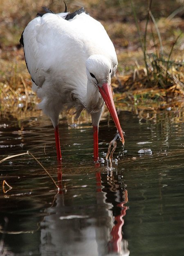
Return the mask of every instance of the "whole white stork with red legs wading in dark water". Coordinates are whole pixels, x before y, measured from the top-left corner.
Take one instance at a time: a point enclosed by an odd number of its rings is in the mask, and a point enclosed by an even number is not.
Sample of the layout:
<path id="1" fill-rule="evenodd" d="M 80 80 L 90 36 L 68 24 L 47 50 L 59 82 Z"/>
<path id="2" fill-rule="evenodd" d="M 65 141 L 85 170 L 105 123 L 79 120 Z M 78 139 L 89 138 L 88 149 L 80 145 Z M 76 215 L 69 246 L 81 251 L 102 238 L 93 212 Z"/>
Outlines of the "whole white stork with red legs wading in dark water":
<path id="1" fill-rule="evenodd" d="M 69 14 L 55 14 L 43 7 L 22 32 L 32 89 L 42 99 L 38 107 L 48 115 L 55 131 L 57 158 L 61 160 L 59 113 L 76 108 L 76 118 L 90 113 L 94 138 L 94 161 L 98 160 L 98 130 L 104 101 L 124 144 L 114 106 L 111 78 L 117 70 L 117 55 L 103 25 L 83 8 Z"/>

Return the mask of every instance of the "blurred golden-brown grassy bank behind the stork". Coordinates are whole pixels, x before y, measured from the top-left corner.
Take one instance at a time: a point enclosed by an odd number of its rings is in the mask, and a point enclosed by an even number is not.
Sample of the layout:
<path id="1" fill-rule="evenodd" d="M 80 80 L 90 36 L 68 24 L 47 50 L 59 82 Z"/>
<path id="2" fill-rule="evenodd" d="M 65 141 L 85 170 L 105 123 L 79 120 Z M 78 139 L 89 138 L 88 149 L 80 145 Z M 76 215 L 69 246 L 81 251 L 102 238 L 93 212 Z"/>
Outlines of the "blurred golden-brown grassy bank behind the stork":
<path id="1" fill-rule="evenodd" d="M 112 81 L 119 108 L 182 106 L 184 96 L 184 0 L 65 0 L 68 11 L 85 7 L 108 32 L 119 67 Z M 0 110 L 35 111 L 19 39 L 41 7 L 63 12 L 61 0 L 1 0 Z M 150 12 L 149 12 L 150 6 Z"/>

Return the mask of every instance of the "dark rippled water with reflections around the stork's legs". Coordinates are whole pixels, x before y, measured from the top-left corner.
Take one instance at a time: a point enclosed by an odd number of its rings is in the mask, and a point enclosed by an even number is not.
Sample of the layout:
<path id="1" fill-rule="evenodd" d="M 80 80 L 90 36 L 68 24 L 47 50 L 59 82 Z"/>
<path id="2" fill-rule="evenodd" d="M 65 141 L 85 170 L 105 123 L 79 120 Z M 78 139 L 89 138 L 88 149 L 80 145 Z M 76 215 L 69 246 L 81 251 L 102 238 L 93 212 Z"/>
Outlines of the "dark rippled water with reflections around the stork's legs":
<path id="1" fill-rule="evenodd" d="M 63 164 L 58 166 L 53 127 L 46 118 L 0 119 L 0 249 L 16 256 L 183 256 L 184 117 L 163 111 L 150 120 L 119 113 L 126 133 L 113 169 L 92 163 L 92 127 L 60 122 Z M 116 129 L 102 121 L 100 156 Z M 45 145 L 46 144 L 46 145 Z M 45 146 L 45 152 L 44 152 Z M 150 148 L 152 155 L 139 155 Z M 45 155 L 46 153 L 46 155 Z M 2 189 L 6 180 L 11 187 Z M 3 242 L 3 244 L 2 244 Z M 2 251 L 0 255 L 2 254 Z M 3 255 L 3 254 L 2 254 Z"/>

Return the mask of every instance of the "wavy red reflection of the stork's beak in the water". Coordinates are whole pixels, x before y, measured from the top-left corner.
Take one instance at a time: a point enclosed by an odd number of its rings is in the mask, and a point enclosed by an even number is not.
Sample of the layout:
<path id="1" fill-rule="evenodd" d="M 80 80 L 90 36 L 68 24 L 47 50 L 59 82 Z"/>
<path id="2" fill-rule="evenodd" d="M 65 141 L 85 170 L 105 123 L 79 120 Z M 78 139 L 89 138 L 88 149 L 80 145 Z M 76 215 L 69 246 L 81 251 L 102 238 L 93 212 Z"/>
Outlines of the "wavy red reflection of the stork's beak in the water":
<path id="1" fill-rule="evenodd" d="M 123 203 L 119 203 L 117 206 L 123 208 L 121 213 L 115 217 L 116 224 L 113 226 L 112 231 L 110 234 L 112 235 L 112 239 L 109 241 L 108 249 L 109 252 L 120 252 L 121 251 L 121 240 L 122 234 L 121 229 L 124 224 L 123 217 L 126 215 L 126 210 L 128 209 L 127 206 L 124 206 L 125 203 L 128 202 L 128 192 L 127 190 L 124 192 L 125 200 Z"/>

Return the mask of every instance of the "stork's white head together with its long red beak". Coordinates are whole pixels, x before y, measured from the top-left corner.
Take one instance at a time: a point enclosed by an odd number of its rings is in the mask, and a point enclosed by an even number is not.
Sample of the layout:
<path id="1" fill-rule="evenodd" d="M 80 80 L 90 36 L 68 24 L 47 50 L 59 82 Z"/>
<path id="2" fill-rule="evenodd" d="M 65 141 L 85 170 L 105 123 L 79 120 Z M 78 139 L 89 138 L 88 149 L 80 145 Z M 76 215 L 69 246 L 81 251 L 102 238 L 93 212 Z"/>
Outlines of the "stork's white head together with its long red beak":
<path id="1" fill-rule="evenodd" d="M 114 63 L 114 65 L 112 64 Z M 121 141 L 124 144 L 123 133 L 119 123 L 116 108 L 114 106 L 114 100 L 111 90 L 111 78 L 114 76 L 117 70 L 117 60 L 110 61 L 103 55 L 91 55 L 86 60 L 86 74 L 88 81 L 93 84 L 100 92 L 106 106 L 114 120 L 114 123 L 121 136 Z"/>

